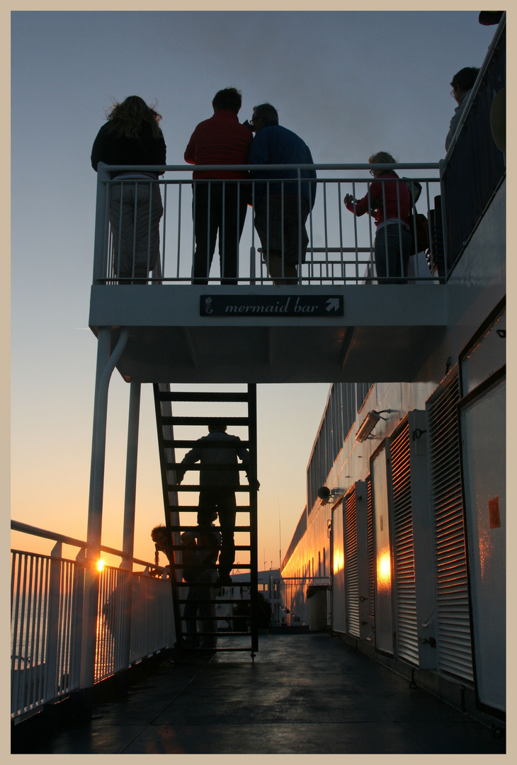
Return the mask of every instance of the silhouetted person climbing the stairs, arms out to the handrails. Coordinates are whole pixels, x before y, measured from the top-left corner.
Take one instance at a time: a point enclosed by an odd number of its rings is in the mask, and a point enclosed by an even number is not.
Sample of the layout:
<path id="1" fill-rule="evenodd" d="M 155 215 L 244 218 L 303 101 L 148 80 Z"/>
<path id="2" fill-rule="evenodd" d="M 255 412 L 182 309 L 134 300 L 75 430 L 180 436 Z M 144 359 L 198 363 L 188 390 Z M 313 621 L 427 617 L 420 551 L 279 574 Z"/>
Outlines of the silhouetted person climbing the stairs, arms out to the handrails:
<path id="1" fill-rule="evenodd" d="M 233 534 L 236 523 L 236 487 L 239 487 L 239 460 L 249 480 L 249 452 L 242 447 L 239 436 L 226 433 L 226 425 L 212 420 L 208 435 L 198 438 L 197 446 L 185 454 L 176 470 L 177 483 L 181 483 L 190 465 L 200 462 L 200 498 L 197 511 L 199 526 L 209 526 L 212 513 L 219 515 L 221 552 L 219 555 L 219 581 L 221 586 L 231 584 L 229 572 L 235 561 Z M 218 444 L 221 444 L 220 448 Z M 215 444 L 215 445 L 214 445 Z M 221 470 L 223 468 L 223 470 Z M 258 481 L 256 487 L 258 489 Z"/>

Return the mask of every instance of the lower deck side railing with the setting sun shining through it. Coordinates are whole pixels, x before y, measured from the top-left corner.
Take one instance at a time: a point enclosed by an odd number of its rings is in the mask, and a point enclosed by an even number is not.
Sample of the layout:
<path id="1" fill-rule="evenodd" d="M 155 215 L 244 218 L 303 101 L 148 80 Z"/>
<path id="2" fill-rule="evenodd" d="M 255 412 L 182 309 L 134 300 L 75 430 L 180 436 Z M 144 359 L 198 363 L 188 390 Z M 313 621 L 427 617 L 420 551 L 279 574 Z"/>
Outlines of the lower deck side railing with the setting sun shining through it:
<path id="1" fill-rule="evenodd" d="M 11 550 L 11 719 L 20 721 L 44 704 L 80 690 L 89 562 L 86 542 L 16 521 L 11 521 L 11 528 L 57 539 L 50 555 Z M 63 544 L 80 547 L 75 561 L 63 558 Z M 102 549 L 119 555 L 127 565 L 122 552 Z M 149 575 L 151 570 L 163 571 L 160 567 L 138 558 L 132 562 L 145 565 L 145 571 L 104 566 L 98 574 L 95 682 L 174 643 L 170 582 Z"/>

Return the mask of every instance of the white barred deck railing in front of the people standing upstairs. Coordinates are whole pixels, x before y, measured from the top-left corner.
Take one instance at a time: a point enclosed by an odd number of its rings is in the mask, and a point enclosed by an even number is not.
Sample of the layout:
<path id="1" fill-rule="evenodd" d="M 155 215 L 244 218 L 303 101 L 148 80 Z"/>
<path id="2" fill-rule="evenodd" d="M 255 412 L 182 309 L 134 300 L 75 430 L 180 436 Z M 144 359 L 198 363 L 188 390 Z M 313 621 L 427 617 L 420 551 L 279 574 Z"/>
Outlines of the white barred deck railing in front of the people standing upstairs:
<path id="1" fill-rule="evenodd" d="M 196 171 L 244 171 L 249 172 L 250 165 L 232 166 L 197 166 Z M 258 166 L 254 166 L 257 168 Z M 275 171 L 277 176 L 281 172 L 293 171 L 298 175 L 299 187 L 307 183 L 304 172 L 307 165 L 260 165 L 260 171 Z M 313 167 L 313 166 L 311 166 Z M 366 195 L 369 185 L 374 179 L 369 174 L 372 168 L 383 169 L 394 167 L 389 165 L 375 164 L 316 164 L 317 172 L 316 201 L 314 209 L 307 218 L 307 234 L 309 246 L 305 262 L 301 262 L 299 255 L 298 275 L 299 281 L 311 285 L 343 285 L 376 283 L 376 272 L 373 258 L 373 243 L 375 239 L 375 224 L 372 217 L 365 214 L 357 217 L 346 210 L 343 203 L 345 194 L 353 194 L 360 199 Z M 441 181 L 439 164 L 397 164 L 395 167 L 399 177 L 406 177 L 421 184 L 421 197 L 416 205 L 418 213 L 423 213 L 428 220 L 434 216 L 435 200 L 441 197 Z M 158 181 L 138 180 L 127 181 L 111 180 L 112 176 L 122 173 L 142 173 L 154 171 L 161 173 Z M 296 179 L 294 181 L 297 182 Z M 311 183 L 314 181 L 311 181 Z M 389 181 L 386 181 L 388 183 Z M 212 180 L 206 181 L 192 179 L 192 166 L 167 165 L 164 167 L 143 166 L 109 166 L 99 163 L 97 184 L 96 206 L 96 240 L 93 281 L 95 284 L 115 284 L 128 282 L 128 278 L 119 278 L 120 275 L 120 250 L 123 248 L 121 239 L 122 225 L 110 224 L 110 199 L 122 200 L 123 187 L 132 184 L 132 187 L 140 188 L 140 193 L 135 194 L 133 209 L 133 225 L 135 233 L 138 219 L 138 205 L 141 210 L 138 226 L 142 218 L 148 222 L 148 239 L 146 254 L 148 265 L 152 264 L 154 254 L 153 234 L 151 241 L 151 220 L 148 212 L 153 207 L 153 198 L 156 200 L 156 192 L 159 188 L 161 202 L 163 203 L 163 216 L 159 223 L 159 255 L 157 263 L 152 270 L 149 283 L 158 284 L 187 284 L 193 280 L 193 255 L 196 248 L 193 217 L 198 213 L 193 205 L 193 185 L 209 184 L 210 188 L 229 187 L 231 185 L 246 184 L 249 189 L 249 205 L 245 226 L 239 240 L 239 272 L 237 283 L 239 284 L 271 284 L 272 278 L 268 275 L 265 260 L 267 252 L 262 252 L 262 246 L 258 234 L 255 231 L 253 221 L 255 218 L 255 191 L 258 194 L 258 185 L 270 183 L 293 184 L 293 177 L 275 177 L 272 181 L 253 180 L 246 177 L 244 180 Z M 142 192 L 145 188 L 145 193 Z M 154 197 L 153 197 L 154 194 Z M 443 206 L 443 197 L 438 201 Z M 441 220 L 441 209 L 437 217 Z M 120 213 L 119 213 L 120 214 Z M 113 221 L 113 210 L 111 211 Z M 120 222 L 120 221 L 119 221 Z M 209 221 L 206 225 L 209 225 Z M 115 231 L 115 233 L 114 233 Z M 414 233 L 416 230 L 414 229 Z M 441 241 L 443 233 L 441 232 Z M 138 236 L 138 234 L 137 234 Z M 146 236 L 146 234 L 145 234 Z M 118 238 L 117 238 L 118 237 Z M 236 237 L 237 238 L 237 237 Z M 135 238 L 134 238 L 135 241 Z M 141 245 L 140 245 L 141 246 Z M 135 247 L 135 244 L 133 244 Z M 409 278 L 418 282 L 433 281 L 436 278 L 438 263 L 443 262 L 443 252 L 435 252 L 434 242 L 428 250 L 428 262 L 422 254 L 420 257 L 411 259 Z M 133 255 L 134 255 L 133 250 Z M 224 259 L 224 246 L 222 257 Z M 149 269 L 151 270 L 151 269 Z M 443 274 L 441 274 L 443 275 Z M 134 276 L 134 274 L 132 275 Z M 212 269 L 208 282 L 220 282 L 219 252 L 213 256 Z M 227 282 L 229 283 L 229 282 Z"/>

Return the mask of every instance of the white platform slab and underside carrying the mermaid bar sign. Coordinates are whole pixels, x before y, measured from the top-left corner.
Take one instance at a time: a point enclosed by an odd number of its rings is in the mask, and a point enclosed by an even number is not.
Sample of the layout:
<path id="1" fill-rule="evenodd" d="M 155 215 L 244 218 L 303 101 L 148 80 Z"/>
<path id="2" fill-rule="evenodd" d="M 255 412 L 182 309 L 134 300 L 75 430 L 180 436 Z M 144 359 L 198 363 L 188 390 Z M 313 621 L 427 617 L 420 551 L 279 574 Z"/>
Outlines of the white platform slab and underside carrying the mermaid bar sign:
<path id="1" fill-rule="evenodd" d="M 229 312 L 202 315 L 207 297 Z M 278 310 L 246 313 L 252 306 Z M 90 325 L 130 327 L 117 365 L 127 380 L 390 381 L 415 376 L 446 317 L 441 285 L 94 285 Z"/>

